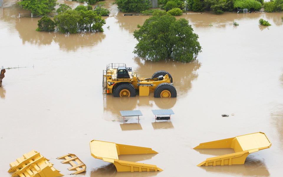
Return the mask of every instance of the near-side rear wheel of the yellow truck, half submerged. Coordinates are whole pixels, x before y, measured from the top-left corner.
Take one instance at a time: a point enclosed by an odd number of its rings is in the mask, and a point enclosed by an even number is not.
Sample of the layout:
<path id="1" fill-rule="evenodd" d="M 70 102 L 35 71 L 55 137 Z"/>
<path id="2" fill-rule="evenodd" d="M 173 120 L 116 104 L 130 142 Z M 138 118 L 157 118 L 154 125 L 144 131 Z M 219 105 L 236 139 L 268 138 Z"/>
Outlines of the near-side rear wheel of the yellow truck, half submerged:
<path id="1" fill-rule="evenodd" d="M 154 97 L 177 97 L 177 91 L 172 84 L 161 83 L 155 88 Z"/>

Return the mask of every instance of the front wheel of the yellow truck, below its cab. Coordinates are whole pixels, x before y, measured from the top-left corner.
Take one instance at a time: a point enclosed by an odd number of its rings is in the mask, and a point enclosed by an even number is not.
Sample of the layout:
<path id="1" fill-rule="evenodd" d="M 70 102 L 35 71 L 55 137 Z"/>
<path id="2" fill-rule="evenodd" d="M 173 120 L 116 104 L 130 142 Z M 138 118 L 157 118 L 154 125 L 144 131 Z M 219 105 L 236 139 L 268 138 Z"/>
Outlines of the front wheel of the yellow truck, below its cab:
<path id="1" fill-rule="evenodd" d="M 113 92 L 114 97 L 135 97 L 136 89 L 130 83 L 122 83 L 116 86 Z"/>

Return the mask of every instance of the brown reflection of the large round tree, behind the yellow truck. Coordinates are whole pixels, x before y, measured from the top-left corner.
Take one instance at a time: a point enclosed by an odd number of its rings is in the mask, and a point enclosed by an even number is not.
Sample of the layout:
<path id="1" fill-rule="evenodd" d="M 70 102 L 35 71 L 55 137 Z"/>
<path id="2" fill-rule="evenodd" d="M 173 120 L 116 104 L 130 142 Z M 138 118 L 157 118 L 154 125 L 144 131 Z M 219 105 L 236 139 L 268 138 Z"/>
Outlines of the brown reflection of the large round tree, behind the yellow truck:
<path id="1" fill-rule="evenodd" d="M 177 97 L 186 94 L 192 88 L 192 81 L 198 78 L 197 71 L 201 67 L 201 63 L 198 60 L 190 63 L 174 61 L 151 62 L 135 57 L 134 61 L 138 65 L 135 71 L 141 77 L 152 77 L 154 72 L 159 70 L 169 72 L 177 89 Z"/>

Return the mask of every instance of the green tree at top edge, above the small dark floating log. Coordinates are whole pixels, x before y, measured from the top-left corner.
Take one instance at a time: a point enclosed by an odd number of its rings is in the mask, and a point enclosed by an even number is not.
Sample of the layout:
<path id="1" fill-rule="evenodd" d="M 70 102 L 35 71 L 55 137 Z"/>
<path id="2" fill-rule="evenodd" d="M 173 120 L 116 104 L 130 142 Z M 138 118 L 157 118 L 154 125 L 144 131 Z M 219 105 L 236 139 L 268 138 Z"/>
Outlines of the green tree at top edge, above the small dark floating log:
<path id="1" fill-rule="evenodd" d="M 149 9 L 151 6 L 148 0 L 116 0 L 115 4 L 122 12 L 140 12 Z"/>

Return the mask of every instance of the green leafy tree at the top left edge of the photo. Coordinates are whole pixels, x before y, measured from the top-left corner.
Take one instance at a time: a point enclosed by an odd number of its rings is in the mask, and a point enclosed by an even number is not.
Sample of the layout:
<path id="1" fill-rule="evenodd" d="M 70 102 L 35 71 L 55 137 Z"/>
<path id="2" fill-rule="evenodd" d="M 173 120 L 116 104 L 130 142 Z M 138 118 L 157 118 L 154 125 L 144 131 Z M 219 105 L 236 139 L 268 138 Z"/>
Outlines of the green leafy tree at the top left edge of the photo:
<path id="1" fill-rule="evenodd" d="M 18 4 L 23 8 L 30 10 L 34 15 L 45 15 L 54 10 L 57 0 L 23 0 Z"/>

